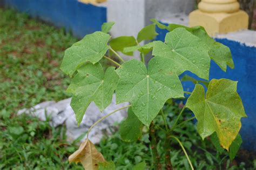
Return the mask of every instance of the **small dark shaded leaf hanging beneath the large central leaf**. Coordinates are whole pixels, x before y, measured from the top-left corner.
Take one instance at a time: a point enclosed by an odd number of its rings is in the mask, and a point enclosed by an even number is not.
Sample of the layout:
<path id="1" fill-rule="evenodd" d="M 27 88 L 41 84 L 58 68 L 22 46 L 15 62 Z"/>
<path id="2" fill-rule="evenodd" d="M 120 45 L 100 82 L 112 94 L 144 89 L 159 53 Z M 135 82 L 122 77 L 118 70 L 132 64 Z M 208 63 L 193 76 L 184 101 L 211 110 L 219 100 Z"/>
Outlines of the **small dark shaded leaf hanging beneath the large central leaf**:
<path id="1" fill-rule="evenodd" d="M 128 117 L 121 123 L 119 128 L 121 139 L 126 142 L 137 141 L 142 137 L 142 127 L 142 122 L 136 117 L 130 107 Z"/>

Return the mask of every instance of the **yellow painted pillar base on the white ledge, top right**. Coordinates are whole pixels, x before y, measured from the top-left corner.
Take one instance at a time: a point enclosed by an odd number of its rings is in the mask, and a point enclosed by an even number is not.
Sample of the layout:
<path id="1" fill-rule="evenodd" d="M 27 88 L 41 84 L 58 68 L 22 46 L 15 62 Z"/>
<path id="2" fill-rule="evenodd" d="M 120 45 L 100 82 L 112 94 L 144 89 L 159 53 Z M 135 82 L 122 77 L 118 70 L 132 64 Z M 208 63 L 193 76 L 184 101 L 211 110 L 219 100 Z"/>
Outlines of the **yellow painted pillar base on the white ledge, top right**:
<path id="1" fill-rule="evenodd" d="M 211 36 L 247 29 L 249 17 L 239 8 L 237 0 L 202 0 L 190 13 L 190 26 L 204 26 Z"/>

